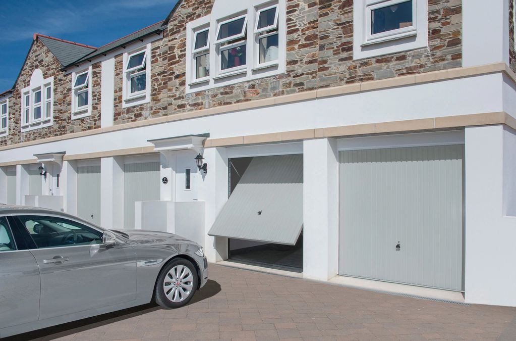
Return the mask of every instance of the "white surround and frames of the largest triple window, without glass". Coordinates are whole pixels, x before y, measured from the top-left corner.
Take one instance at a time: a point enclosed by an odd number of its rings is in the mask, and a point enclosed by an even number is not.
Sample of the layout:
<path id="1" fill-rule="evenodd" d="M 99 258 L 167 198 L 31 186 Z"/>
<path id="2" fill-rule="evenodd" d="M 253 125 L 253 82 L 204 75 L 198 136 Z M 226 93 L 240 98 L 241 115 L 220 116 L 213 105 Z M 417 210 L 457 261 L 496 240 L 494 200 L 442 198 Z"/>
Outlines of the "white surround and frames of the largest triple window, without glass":
<path id="1" fill-rule="evenodd" d="M 286 59 L 286 22 L 285 22 L 285 0 L 263 1 L 248 0 L 249 6 L 245 11 L 235 11 L 228 8 L 228 13 L 224 16 L 218 15 L 217 18 L 213 14 L 187 23 L 187 45 L 186 54 L 190 56 L 186 59 L 186 93 L 202 91 L 206 89 L 227 86 L 240 82 L 246 82 L 263 77 L 269 77 L 285 72 Z M 259 34 L 255 32 L 257 14 L 260 10 L 277 6 L 278 11 L 278 34 L 279 34 L 279 58 L 273 63 L 259 64 Z M 215 43 L 218 25 L 232 18 L 240 17 L 247 14 L 247 42 L 246 56 L 247 63 L 245 67 L 232 68 L 228 71 L 220 71 L 220 44 Z M 196 51 L 193 53 L 193 43 L 195 35 L 209 27 L 209 49 L 202 53 Z M 213 43 L 212 43 L 213 42 Z M 209 53 L 209 76 L 202 79 L 195 78 L 195 57 Z"/>

